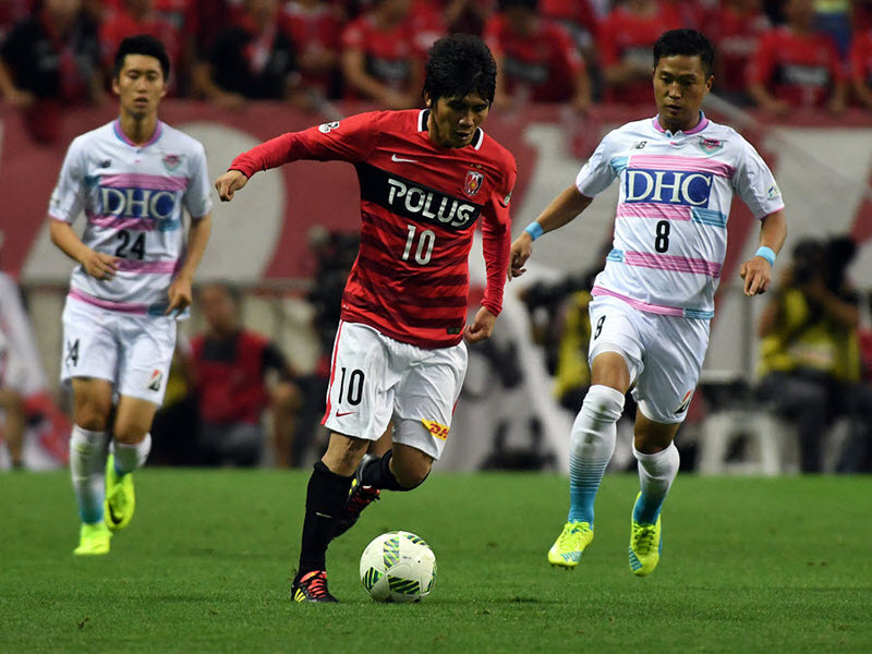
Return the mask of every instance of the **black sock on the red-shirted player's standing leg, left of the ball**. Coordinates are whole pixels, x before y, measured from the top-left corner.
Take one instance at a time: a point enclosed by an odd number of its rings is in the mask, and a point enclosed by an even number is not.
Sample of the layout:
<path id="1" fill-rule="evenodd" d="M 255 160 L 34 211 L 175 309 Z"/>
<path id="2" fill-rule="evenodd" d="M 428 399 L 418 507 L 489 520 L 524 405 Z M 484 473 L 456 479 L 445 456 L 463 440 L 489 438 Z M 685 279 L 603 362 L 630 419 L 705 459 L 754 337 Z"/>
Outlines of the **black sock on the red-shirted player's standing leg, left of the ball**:
<path id="1" fill-rule="evenodd" d="M 323 461 L 315 463 L 306 489 L 306 517 L 303 521 L 298 579 L 312 570 L 326 568 L 327 546 L 334 535 L 335 521 L 348 499 L 353 479 L 330 472 Z"/>

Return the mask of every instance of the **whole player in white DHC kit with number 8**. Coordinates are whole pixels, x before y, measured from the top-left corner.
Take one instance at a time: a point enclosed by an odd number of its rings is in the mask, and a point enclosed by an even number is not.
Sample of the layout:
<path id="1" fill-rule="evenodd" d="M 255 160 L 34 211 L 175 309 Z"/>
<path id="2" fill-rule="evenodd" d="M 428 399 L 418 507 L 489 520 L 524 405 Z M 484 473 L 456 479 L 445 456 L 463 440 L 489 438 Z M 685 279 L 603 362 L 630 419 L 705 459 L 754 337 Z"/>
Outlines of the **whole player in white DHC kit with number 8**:
<path id="1" fill-rule="evenodd" d="M 574 568 L 593 540 L 594 498 L 630 388 L 639 403 L 633 453 L 641 493 L 629 564 L 639 577 L 657 566 L 661 507 L 679 464 L 673 440 L 708 347 L 734 193 L 761 223 L 760 249 L 741 265 L 746 295 L 765 292 L 787 235 L 770 169 L 736 131 L 700 109 L 714 82 L 713 60 L 699 32 L 663 34 L 654 45 L 657 116 L 607 134 L 576 183 L 511 246 L 509 278 L 523 274 L 536 238 L 567 225 L 620 181 L 613 250 L 593 288 L 591 387 L 570 435 L 570 509 L 548 552 L 555 566 Z"/>

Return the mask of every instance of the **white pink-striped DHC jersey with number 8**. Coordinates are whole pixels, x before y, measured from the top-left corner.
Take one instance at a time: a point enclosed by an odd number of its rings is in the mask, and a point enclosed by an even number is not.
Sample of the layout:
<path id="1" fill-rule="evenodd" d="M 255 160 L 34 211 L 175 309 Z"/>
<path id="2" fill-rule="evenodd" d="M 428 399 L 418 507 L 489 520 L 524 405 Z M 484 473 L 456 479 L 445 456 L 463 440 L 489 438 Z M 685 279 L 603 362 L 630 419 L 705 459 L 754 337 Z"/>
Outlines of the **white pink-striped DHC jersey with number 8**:
<path id="1" fill-rule="evenodd" d="M 593 197 L 616 179 L 613 250 L 594 294 L 651 313 L 714 315 L 734 194 L 758 219 L 784 208 L 772 171 L 753 146 L 702 112 L 687 132 L 665 131 L 656 117 L 614 130 L 576 186 Z"/>

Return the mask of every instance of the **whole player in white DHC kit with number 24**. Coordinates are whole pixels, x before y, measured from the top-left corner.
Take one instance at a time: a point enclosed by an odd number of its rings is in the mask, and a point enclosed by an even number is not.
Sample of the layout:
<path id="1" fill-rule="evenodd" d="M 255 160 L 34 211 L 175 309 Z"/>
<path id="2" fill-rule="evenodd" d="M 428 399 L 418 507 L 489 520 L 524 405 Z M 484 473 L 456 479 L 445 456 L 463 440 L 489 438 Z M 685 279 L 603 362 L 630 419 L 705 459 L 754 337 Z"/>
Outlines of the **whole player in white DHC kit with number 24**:
<path id="1" fill-rule="evenodd" d="M 80 264 L 63 310 L 61 365 L 73 388 L 70 470 L 82 518 L 76 555 L 108 553 L 111 532 L 133 516 L 131 472 L 148 456 L 175 320 L 191 304 L 191 281 L 211 231 L 203 146 L 157 118 L 169 66 L 157 39 L 121 43 L 112 78 L 120 116 L 73 141 L 49 205 L 52 242 Z M 72 223 L 83 210 L 80 239 Z"/>

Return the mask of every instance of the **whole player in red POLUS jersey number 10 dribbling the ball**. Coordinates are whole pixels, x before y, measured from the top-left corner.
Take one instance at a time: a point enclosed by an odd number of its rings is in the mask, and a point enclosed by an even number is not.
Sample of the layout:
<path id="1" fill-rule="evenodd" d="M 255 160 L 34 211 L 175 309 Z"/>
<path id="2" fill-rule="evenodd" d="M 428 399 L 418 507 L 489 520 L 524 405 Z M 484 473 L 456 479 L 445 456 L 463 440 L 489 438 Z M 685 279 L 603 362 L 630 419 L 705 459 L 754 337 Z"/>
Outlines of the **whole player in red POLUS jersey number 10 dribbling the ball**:
<path id="1" fill-rule="evenodd" d="M 468 342 L 491 336 L 508 265 L 511 154 L 481 129 L 496 63 L 479 37 L 434 44 L 424 110 L 375 111 L 267 141 L 215 183 L 233 198 L 251 175 L 299 159 L 353 164 L 361 187 L 361 249 L 342 296 L 327 411 L 327 452 L 308 482 L 300 567 L 291 597 L 336 602 L 327 590 L 330 541 L 380 489 L 411 491 L 449 436 Z M 467 325 L 469 252 L 482 218 L 487 286 Z M 366 456 L 392 422 L 393 448 Z"/>

